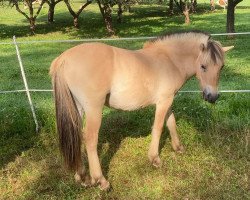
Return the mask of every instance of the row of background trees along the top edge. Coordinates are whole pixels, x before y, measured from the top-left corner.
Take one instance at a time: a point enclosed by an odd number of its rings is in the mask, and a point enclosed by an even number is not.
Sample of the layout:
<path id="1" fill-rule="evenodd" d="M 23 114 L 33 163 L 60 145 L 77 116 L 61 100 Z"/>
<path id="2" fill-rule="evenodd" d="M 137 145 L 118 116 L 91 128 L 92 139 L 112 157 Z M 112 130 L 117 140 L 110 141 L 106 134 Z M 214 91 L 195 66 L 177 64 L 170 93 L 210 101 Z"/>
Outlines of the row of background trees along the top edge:
<path id="1" fill-rule="evenodd" d="M 4 0 L 0 1 L 3 2 Z M 208 3 L 210 2 L 210 9 L 213 11 L 215 9 L 215 0 L 207 1 Z M 227 32 L 235 32 L 234 11 L 236 5 L 243 0 L 217 0 L 219 3 L 220 1 L 227 4 L 225 5 L 225 7 L 227 6 Z M 69 13 L 72 15 L 74 26 L 79 28 L 79 16 L 82 11 L 91 3 L 97 3 L 106 29 L 110 35 L 115 34 L 112 23 L 112 13 L 114 10 L 117 10 L 117 21 L 121 23 L 122 14 L 124 12 L 131 12 L 132 6 L 141 4 L 159 4 L 166 7 L 169 15 L 174 15 L 174 10 L 178 10 L 185 17 L 185 23 L 189 24 L 190 13 L 195 13 L 198 6 L 197 0 L 83 0 L 80 8 L 78 10 L 74 10 L 72 7 L 72 0 L 9 0 L 9 2 L 29 21 L 32 33 L 35 32 L 36 18 L 38 17 L 44 4 L 47 4 L 49 7 L 48 23 L 53 23 L 54 21 L 55 6 L 60 2 L 64 2 Z M 24 8 L 21 8 L 20 5 L 23 4 L 25 5 L 26 10 L 28 9 L 27 11 L 25 11 Z M 113 9 L 114 6 L 117 6 L 118 9 Z"/>

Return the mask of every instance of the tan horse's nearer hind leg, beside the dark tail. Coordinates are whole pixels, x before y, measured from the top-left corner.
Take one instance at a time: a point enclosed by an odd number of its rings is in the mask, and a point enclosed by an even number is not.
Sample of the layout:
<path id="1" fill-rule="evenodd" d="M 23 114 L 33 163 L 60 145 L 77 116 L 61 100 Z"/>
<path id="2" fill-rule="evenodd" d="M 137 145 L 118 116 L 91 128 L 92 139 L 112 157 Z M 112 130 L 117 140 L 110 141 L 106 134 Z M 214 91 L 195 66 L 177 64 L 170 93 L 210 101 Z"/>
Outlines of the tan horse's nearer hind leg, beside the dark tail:
<path id="1" fill-rule="evenodd" d="M 104 102 L 103 102 L 104 103 Z M 97 154 L 98 133 L 102 121 L 103 104 L 88 105 L 85 109 L 86 125 L 84 140 L 89 161 L 89 171 L 92 184 L 100 184 L 102 190 L 109 188 L 109 182 L 104 178 Z"/>

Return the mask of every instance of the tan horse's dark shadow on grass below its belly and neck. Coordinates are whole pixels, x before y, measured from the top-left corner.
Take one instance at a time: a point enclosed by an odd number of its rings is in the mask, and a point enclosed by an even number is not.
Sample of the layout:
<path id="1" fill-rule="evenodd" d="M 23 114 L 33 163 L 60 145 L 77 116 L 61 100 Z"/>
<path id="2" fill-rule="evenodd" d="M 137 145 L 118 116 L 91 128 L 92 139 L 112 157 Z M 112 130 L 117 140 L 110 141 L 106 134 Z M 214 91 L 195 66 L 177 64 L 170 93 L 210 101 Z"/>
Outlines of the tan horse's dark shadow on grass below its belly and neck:
<path id="1" fill-rule="evenodd" d="M 190 109 L 190 106 L 192 109 Z M 110 162 L 125 138 L 141 138 L 151 134 L 151 127 L 154 122 L 154 111 L 154 107 L 143 108 L 132 112 L 112 110 L 108 115 L 103 117 L 99 137 L 99 151 L 103 148 L 102 144 L 106 145 L 108 143 L 109 149 L 102 157 L 103 172 L 105 175 L 108 174 Z M 177 121 L 180 118 L 189 121 L 190 124 L 194 124 L 198 132 L 209 129 L 212 123 L 212 120 L 207 120 L 212 118 L 211 110 L 202 107 L 200 100 L 197 101 L 196 97 L 178 97 L 177 100 L 174 101 L 173 112 L 175 113 Z M 205 119 L 203 119 L 204 116 Z M 170 140 L 171 138 L 169 131 L 164 125 L 160 140 L 160 151 L 166 145 L 167 139 Z M 167 145 L 170 147 L 171 143 L 169 142 Z M 145 157 L 147 157 L 147 152 L 145 152 Z"/>

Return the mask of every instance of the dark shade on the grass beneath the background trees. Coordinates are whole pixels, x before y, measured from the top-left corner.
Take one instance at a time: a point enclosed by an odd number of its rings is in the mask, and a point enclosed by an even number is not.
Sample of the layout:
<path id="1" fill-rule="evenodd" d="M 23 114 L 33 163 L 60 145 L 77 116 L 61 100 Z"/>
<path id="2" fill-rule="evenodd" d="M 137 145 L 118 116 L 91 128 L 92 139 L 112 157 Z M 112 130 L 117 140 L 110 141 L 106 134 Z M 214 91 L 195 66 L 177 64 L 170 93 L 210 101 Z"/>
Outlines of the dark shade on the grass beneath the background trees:
<path id="1" fill-rule="evenodd" d="M 184 17 L 177 13 L 173 16 L 167 16 L 164 8 L 159 7 L 136 7 L 130 14 L 124 14 L 123 23 L 116 22 L 116 15 L 113 15 L 113 24 L 118 36 L 152 36 L 161 33 L 163 30 L 182 30 L 182 29 L 202 29 L 208 32 L 224 32 L 226 26 L 225 13 L 215 13 L 215 16 L 202 16 L 209 7 L 200 7 L 197 13 L 191 14 L 191 25 L 184 25 Z M 237 19 L 245 18 L 247 14 L 237 14 Z M 60 12 L 55 15 L 55 22 L 48 24 L 46 14 L 37 19 L 36 34 L 48 34 L 53 32 L 68 33 L 72 38 L 95 38 L 107 37 L 108 34 L 104 27 L 101 14 L 98 12 L 84 11 L 79 18 L 80 28 L 73 27 L 72 17 L 68 12 Z M 198 22 L 198 24 L 196 24 Z M 218 29 L 218 23 L 223 25 Z M 0 24 L 0 38 L 8 39 L 13 35 L 17 37 L 31 36 L 29 24 L 23 19 L 24 25 L 6 25 Z M 216 26 L 215 26 L 216 25 Z M 139 28 L 138 28 L 139 27 Z M 162 28 L 159 28 L 162 27 Z M 237 26 L 237 30 L 245 30 L 244 25 Z"/>

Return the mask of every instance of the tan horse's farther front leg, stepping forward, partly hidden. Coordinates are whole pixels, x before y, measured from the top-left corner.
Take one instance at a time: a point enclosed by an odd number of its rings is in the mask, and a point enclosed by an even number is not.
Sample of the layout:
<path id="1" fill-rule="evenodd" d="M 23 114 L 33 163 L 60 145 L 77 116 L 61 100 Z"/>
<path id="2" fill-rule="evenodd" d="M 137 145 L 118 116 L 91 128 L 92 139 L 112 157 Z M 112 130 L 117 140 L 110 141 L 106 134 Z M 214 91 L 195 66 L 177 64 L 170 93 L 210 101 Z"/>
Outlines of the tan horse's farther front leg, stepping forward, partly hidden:
<path id="1" fill-rule="evenodd" d="M 169 110 L 166 120 L 167 120 L 167 127 L 171 136 L 172 147 L 176 152 L 182 153 L 184 151 L 184 148 L 180 143 L 180 139 L 176 131 L 176 122 L 174 113 L 172 111 Z"/>

